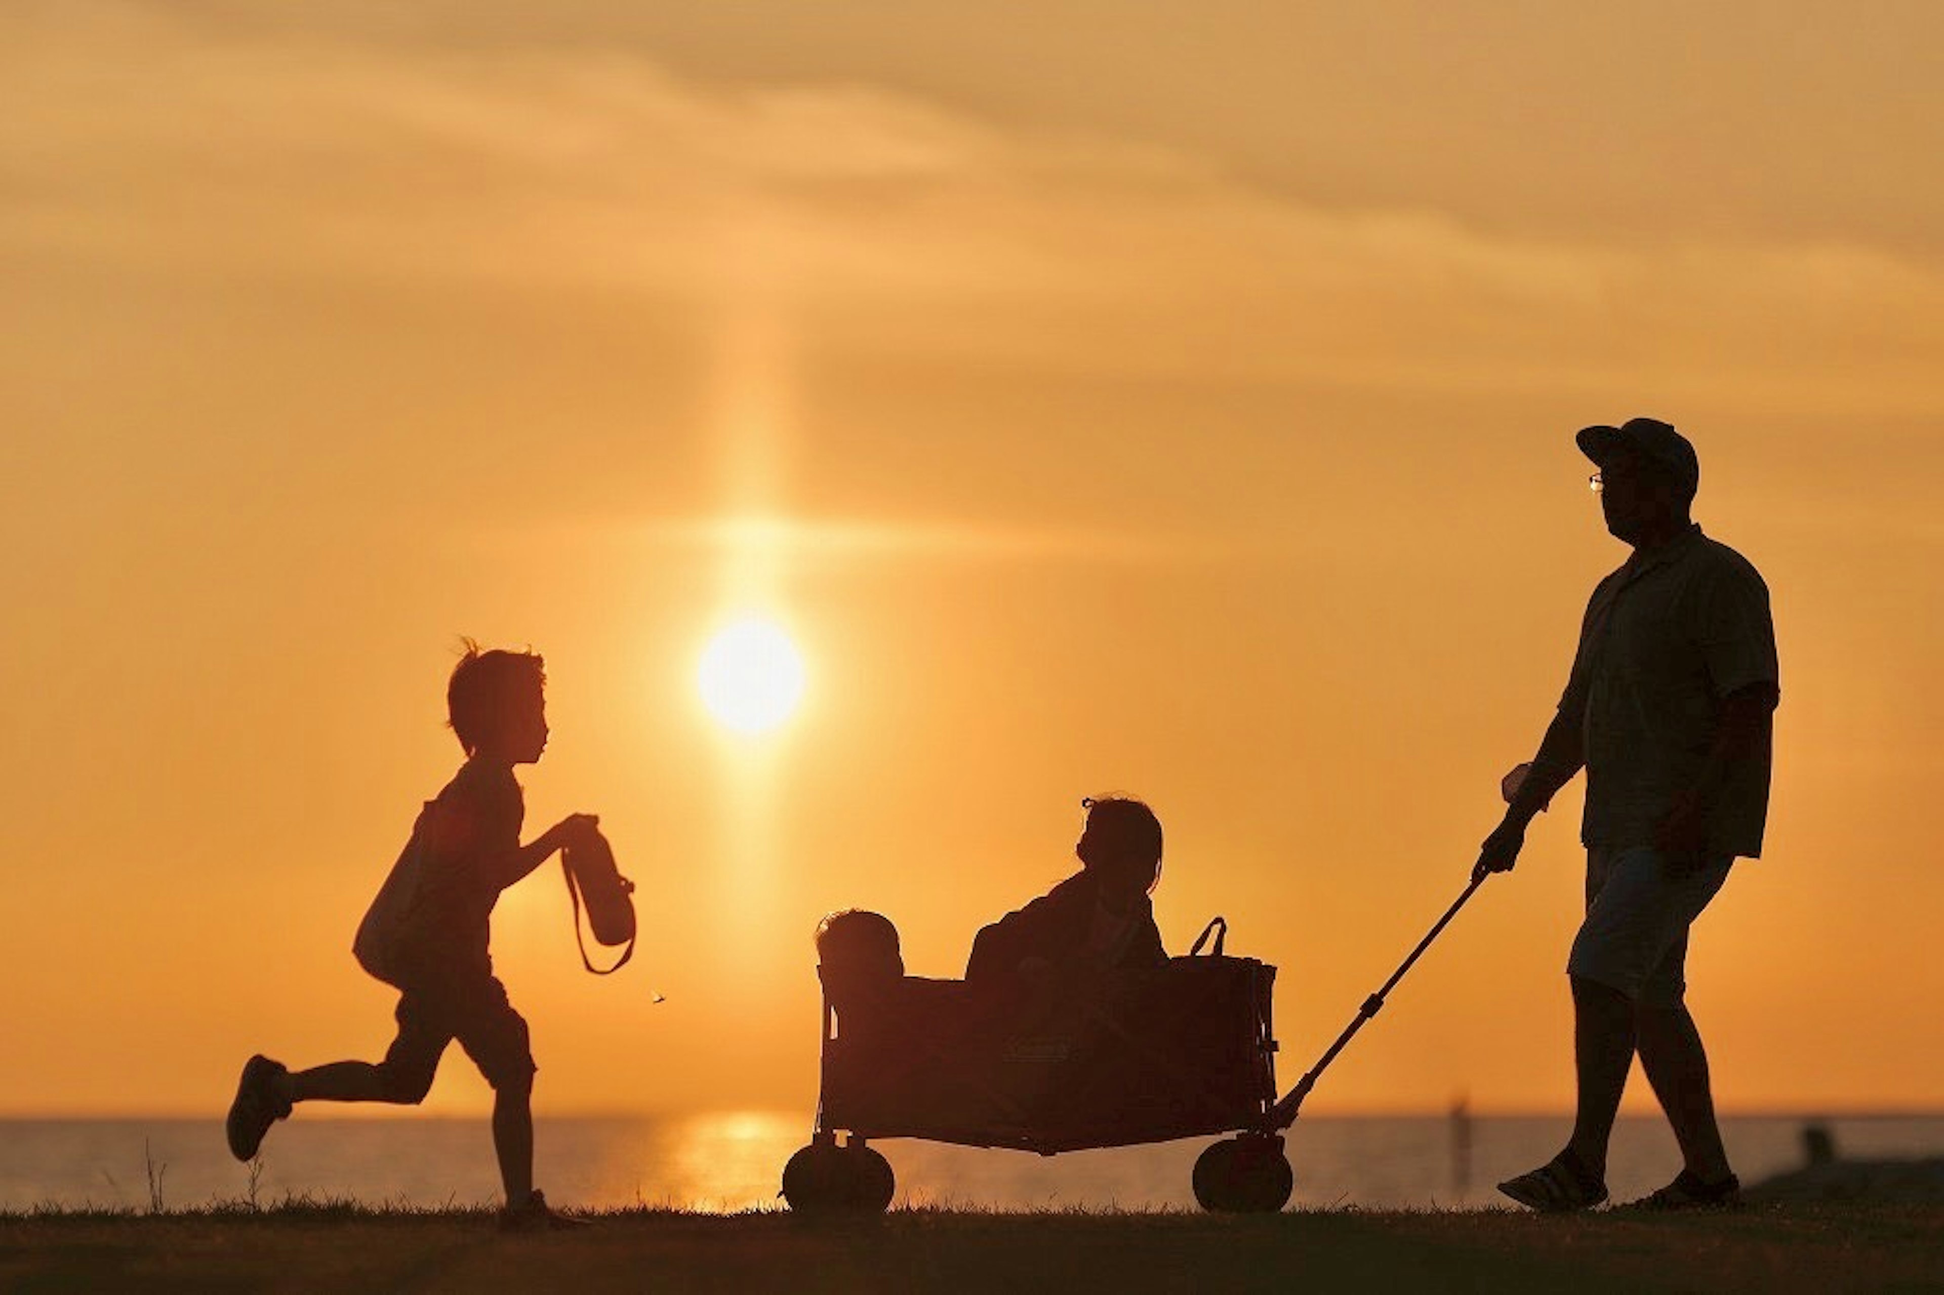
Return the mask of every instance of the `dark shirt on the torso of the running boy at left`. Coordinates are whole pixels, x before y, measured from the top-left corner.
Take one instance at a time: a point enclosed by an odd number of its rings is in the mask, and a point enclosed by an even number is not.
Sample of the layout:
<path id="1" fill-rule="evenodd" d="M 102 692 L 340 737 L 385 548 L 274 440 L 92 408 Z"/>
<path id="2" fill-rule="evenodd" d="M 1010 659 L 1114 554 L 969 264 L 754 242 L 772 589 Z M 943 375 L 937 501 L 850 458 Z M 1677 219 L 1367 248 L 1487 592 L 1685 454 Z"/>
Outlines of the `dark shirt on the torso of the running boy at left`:
<path id="1" fill-rule="evenodd" d="M 406 962 L 439 978 L 492 976 L 492 910 L 515 879 L 527 803 L 513 770 L 467 760 L 434 801 Z"/>

